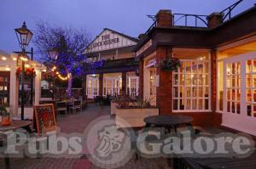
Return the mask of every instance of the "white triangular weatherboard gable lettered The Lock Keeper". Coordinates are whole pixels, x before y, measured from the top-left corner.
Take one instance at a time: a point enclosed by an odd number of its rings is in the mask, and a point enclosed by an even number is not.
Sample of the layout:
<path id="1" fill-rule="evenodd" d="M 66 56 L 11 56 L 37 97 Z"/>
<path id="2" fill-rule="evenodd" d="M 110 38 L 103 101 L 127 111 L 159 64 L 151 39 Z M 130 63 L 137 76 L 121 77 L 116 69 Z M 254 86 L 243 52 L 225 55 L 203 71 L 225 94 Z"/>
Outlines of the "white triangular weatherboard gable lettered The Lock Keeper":
<path id="1" fill-rule="evenodd" d="M 123 37 L 114 31 L 105 29 L 93 42 L 90 43 L 90 46 L 85 49 L 85 54 L 114 48 L 124 48 L 136 44 L 137 42 L 134 42 L 127 37 Z"/>

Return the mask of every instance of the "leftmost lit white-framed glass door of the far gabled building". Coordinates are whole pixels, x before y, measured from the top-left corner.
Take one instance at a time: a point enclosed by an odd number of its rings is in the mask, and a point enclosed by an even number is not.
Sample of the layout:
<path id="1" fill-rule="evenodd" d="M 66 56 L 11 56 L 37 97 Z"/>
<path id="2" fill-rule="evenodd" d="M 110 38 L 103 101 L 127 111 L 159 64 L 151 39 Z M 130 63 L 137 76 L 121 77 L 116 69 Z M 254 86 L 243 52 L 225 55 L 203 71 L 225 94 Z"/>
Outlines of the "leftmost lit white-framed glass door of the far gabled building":
<path id="1" fill-rule="evenodd" d="M 87 81 L 87 98 L 94 99 L 99 95 L 99 80 L 97 77 L 89 77 Z"/>

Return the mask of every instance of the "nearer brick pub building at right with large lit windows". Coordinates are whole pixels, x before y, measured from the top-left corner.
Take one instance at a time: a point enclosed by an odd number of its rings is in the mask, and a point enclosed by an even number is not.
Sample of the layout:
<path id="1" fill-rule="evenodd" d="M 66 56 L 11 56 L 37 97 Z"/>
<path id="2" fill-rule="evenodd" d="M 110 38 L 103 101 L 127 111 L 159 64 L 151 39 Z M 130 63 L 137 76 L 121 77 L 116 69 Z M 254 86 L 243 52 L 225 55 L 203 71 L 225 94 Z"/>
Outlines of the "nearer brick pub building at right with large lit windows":
<path id="1" fill-rule="evenodd" d="M 229 16 L 160 10 L 135 49 L 139 95 L 154 99 L 160 115 L 256 136 L 256 6 Z M 163 69 L 170 58 L 180 60 L 177 70 Z"/>

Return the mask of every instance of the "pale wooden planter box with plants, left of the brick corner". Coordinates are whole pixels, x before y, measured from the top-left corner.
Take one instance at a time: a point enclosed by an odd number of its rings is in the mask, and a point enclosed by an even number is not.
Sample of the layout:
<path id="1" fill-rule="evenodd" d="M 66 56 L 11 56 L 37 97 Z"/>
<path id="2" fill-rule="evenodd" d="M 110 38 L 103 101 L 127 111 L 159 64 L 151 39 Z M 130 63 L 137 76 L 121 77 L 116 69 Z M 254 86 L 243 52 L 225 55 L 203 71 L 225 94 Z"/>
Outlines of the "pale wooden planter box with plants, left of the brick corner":
<path id="1" fill-rule="evenodd" d="M 127 108 L 127 109 L 116 109 L 116 117 L 129 123 L 130 127 L 143 127 L 145 125 L 143 119 L 151 115 L 159 115 L 158 108 L 148 108 L 148 109 L 137 109 L 137 108 Z M 121 122 L 119 118 L 116 118 L 116 125 L 118 127 L 129 127 L 126 125 L 119 125 Z"/>

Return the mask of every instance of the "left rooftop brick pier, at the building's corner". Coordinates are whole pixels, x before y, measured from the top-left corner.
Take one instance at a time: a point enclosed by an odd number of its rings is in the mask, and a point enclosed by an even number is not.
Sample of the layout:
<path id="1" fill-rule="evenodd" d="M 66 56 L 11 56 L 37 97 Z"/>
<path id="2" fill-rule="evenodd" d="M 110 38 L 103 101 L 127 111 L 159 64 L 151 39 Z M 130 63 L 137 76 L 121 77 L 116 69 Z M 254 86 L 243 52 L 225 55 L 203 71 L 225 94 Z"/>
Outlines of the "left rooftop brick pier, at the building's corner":
<path id="1" fill-rule="evenodd" d="M 157 27 L 172 27 L 172 11 L 160 10 L 156 15 Z"/>

